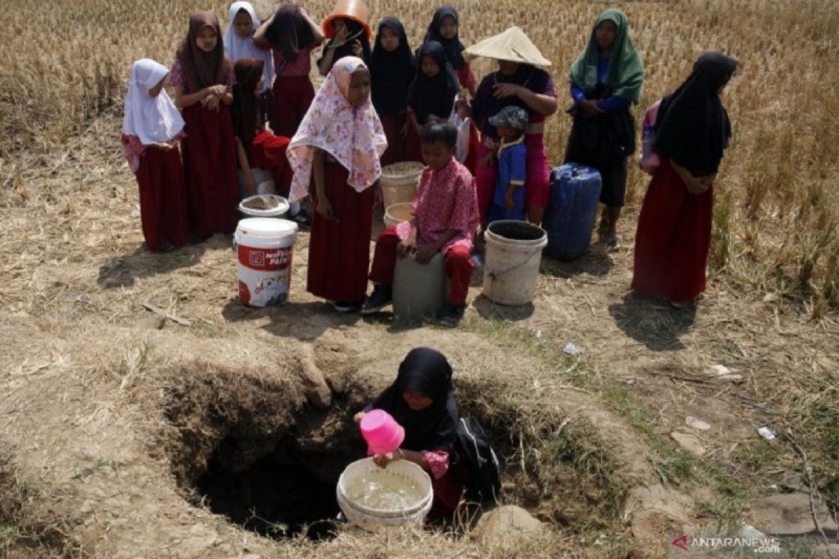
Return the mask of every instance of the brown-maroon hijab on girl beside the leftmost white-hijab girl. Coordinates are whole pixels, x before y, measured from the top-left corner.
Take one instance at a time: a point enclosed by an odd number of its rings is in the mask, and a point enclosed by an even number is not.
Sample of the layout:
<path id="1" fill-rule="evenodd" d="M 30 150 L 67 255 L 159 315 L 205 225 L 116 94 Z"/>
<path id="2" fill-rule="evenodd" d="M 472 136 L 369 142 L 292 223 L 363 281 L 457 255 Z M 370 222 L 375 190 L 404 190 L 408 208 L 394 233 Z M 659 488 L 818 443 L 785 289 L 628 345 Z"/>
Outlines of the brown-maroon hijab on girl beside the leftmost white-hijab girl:
<path id="1" fill-rule="evenodd" d="M 216 32 L 216 48 L 206 53 L 198 48 L 198 35 L 204 28 L 210 27 Z M 211 85 L 224 85 L 230 73 L 232 63 L 224 54 L 221 39 L 221 26 L 216 14 L 195 12 L 190 16 L 190 32 L 178 47 L 177 60 L 184 70 L 185 93 L 195 93 Z"/>

